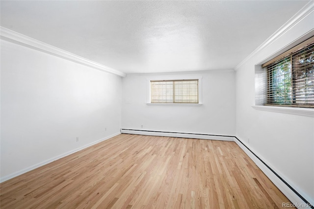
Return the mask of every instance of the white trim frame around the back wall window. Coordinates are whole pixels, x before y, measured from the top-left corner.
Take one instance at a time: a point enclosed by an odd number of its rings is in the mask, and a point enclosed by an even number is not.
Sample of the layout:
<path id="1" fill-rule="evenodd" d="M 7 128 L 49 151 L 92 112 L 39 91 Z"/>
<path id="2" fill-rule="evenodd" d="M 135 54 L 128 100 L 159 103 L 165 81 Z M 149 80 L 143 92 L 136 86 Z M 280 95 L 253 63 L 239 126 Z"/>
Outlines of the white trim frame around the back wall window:
<path id="1" fill-rule="evenodd" d="M 201 106 L 202 103 L 202 76 L 188 76 L 188 75 L 172 75 L 147 78 L 147 105 L 152 106 Z M 183 80 L 183 79 L 198 79 L 198 104 L 188 103 L 151 103 L 151 80 Z"/>

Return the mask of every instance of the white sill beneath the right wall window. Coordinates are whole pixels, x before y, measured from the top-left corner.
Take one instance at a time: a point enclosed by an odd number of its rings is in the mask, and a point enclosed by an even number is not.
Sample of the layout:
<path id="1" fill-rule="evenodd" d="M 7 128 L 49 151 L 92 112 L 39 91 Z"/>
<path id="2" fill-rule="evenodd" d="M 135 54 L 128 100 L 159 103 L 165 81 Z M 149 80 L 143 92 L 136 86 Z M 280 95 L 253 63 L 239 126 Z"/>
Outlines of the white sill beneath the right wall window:
<path id="1" fill-rule="evenodd" d="M 302 115 L 302 116 L 314 117 L 314 108 L 266 106 L 266 105 L 255 105 L 252 107 L 256 110 L 280 112 L 280 113 L 287 113 L 287 114 L 293 114 L 293 115 Z"/>

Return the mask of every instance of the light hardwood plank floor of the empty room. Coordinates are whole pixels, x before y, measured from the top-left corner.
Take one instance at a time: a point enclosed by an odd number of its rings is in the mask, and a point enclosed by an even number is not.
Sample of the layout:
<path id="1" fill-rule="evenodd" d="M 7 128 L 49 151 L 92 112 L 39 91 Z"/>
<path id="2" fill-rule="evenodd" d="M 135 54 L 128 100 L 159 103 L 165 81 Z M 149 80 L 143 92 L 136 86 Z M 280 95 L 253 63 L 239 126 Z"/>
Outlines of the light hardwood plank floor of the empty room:
<path id="1" fill-rule="evenodd" d="M 289 202 L 235 142 L 131 134 L 0 189 L 1 209 L 271 209 Z"/>

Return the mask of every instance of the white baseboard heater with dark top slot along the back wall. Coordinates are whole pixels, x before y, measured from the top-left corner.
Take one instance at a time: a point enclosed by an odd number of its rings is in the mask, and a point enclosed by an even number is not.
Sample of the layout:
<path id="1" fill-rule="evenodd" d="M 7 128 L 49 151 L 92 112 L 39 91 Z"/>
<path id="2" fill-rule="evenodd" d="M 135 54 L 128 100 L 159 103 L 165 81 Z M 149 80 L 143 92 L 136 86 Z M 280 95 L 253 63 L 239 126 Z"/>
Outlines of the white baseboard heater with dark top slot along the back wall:
<path id="1" fill-rule="evenodd" d="M 203 133 L 183 133 L 183 132 L 170 132 L 170 131 L 147 131 L 147 130 L 133 130 L 133 129 L 121 129 L 121 133 L 149 135 L 149 136 L 168 136 L 179 138 L 196 138 L 196 139 L 211 139 L 220 141 L 234 141 L 234 136 L 225 135 L 213 135 Z"/>

